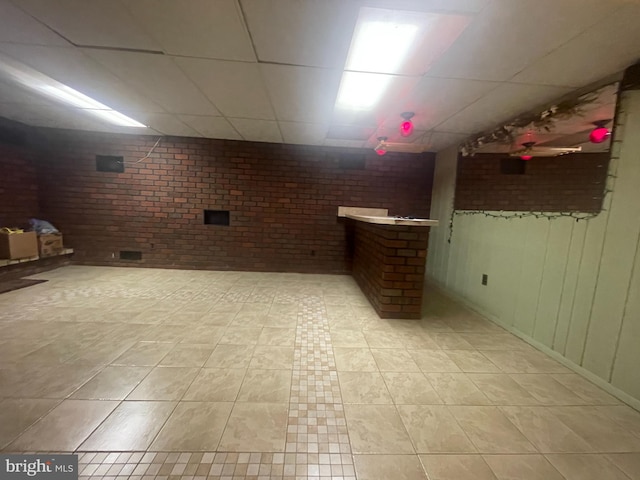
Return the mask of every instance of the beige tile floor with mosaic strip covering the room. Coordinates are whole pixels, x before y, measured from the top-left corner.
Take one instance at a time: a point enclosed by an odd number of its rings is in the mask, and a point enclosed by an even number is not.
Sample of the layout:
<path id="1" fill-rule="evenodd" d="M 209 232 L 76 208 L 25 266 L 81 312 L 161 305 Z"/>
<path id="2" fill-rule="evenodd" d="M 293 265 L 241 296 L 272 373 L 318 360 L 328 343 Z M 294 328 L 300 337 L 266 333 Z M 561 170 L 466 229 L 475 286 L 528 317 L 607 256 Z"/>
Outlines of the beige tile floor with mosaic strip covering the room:
<path id="1" fill-rule="evenodd" d="M 640 414 L 429 291 L 65 267 L 0 295 L 0 449 L 82 480 L 640 479 Z"/>

